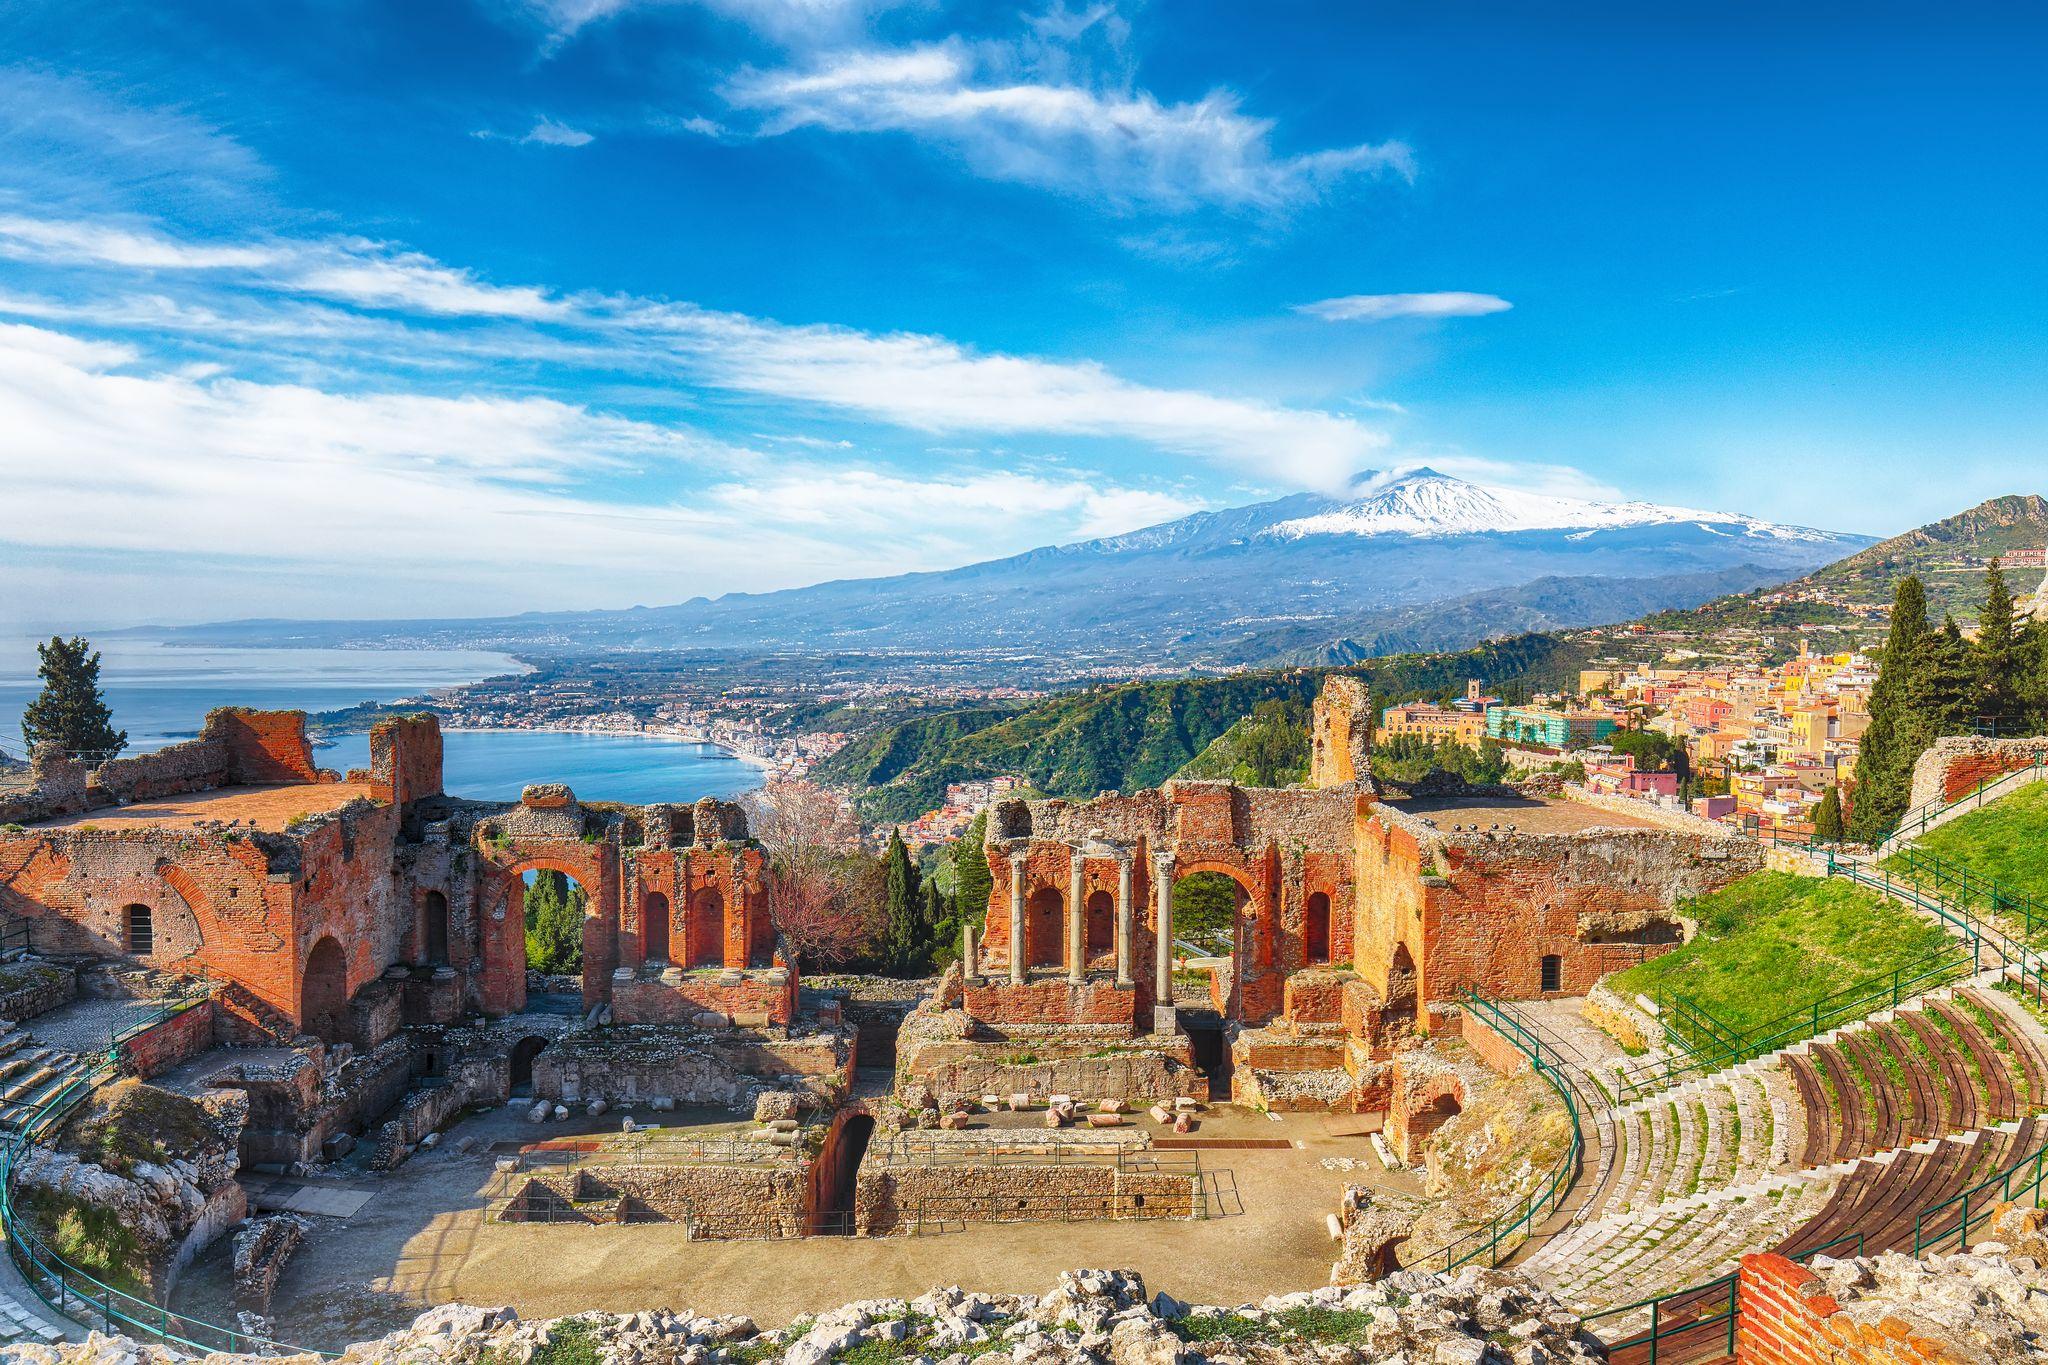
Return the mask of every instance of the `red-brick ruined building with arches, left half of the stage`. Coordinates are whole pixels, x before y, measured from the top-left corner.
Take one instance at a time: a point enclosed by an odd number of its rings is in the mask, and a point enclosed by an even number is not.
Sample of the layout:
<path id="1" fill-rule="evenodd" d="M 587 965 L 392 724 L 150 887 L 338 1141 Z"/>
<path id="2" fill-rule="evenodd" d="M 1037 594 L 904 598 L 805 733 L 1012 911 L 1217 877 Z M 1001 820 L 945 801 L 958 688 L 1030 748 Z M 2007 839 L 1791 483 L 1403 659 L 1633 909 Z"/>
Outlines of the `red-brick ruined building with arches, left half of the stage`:
<path id="1" fill-rule="evenodd" d="M 522 876 L 584 888 L 584 1005 L 618 1023 L 702 1013 L 786 1025 L 762 853 L 743 814 L 516 804 L 440 786 L 432 716 L 379 722 L 371 767 L 322 772 L 297 712 L 217 710 L 199 739 L 86 769 L 39 755 L 0 829 L 0 923 L 45 954 L 125 956 L 227 982 L 276 1031 L 373 1046 L 399 1019 L 526 1005 Z"/>

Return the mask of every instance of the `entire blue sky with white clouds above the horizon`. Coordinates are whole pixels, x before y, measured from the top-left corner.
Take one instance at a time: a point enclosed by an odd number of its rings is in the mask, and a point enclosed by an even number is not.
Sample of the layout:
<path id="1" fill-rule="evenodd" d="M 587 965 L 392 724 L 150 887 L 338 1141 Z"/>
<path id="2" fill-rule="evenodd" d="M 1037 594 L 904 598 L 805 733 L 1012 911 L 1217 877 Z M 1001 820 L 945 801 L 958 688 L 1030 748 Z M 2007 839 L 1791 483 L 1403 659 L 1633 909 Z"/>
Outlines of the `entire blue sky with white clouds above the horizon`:
<path id="1" fill-rule="evenodd" d="M 14 0 L 0 622 L 676 602 L 1419 463 L 2034 491 L 2044 23 Z"/>

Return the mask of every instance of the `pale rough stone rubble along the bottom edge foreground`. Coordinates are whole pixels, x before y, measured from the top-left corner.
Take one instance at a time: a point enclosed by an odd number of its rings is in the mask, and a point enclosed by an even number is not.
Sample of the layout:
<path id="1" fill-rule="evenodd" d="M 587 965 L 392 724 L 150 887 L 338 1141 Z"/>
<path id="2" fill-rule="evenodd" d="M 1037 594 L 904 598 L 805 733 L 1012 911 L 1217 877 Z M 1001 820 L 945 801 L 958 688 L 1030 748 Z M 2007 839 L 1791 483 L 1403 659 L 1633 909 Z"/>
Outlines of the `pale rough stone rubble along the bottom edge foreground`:
<path id="1" fill-rule="evenodd" d="M 1067 1271 L 1044 1295 L 932 1289 L 864 1300 L 778 1330 L 690 1312 L 578 1314 L 522 1322 L 510 1308 L 449 1304 L 408 1330 L 350 1347 L 342 1365 L 526 1365 L 584 1340 L 614 1365 L 825 1365 L 874 1347 L 924 1365 L 1565 1365 L 1604 1361 L 1556 1300 L 1505 1271 L 1403 1271 L 1376 1285 L 1284 1293 L 1237 1308 L 1147 1297 L 1137 1271 Z M 997 1342 L 997 1345 L 991 1345 Z M 170 1365 L 162 1347 L 94 1332 L 84 1345 L 16 1347 L 10 1365 Z M 279 1357 L 266 1357 L 276 1365 Z M 313 1357 L 283 1357 L 313 1365 Z M 207 1365 L 258 1357 L 209 1355 Z"/>

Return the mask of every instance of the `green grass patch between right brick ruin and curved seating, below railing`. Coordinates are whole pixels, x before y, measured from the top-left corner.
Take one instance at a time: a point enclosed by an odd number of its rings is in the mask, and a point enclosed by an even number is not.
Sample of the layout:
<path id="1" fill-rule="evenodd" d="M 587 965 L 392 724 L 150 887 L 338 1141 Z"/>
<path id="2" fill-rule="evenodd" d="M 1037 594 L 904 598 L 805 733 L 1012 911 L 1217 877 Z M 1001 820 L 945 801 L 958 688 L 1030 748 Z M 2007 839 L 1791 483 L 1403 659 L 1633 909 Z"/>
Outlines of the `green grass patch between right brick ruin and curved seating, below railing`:
<path id="1" fill-rule="evenodd" d="M 1608 984 L 1624 999 L 1690 997 L 1741 1031 L 1950 943 L 1942 929 L 1876 892 L 1788 872 L 1753 872 L 1679 913 L 1700 923 L 1694 941 Z"/>

